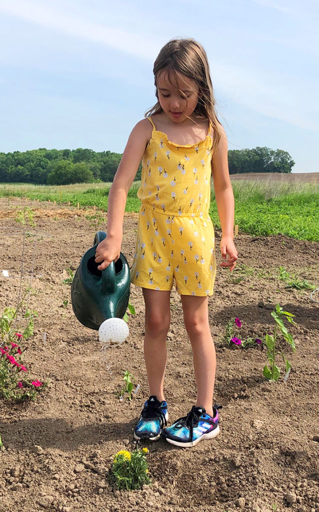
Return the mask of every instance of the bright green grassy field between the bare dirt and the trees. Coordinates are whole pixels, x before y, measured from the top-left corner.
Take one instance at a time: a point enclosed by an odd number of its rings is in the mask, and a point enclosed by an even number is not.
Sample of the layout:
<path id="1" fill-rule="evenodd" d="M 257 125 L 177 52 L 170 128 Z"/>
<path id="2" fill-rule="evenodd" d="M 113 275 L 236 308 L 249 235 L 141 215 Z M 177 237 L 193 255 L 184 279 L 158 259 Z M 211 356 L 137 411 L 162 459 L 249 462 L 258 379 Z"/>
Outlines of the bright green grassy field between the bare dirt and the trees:
<path id="1" fill-rule="evenodd" d="M 126 211 L 138 211 L 136 197 L 140 183 L 134 182 L 127 197 Z M 73 206 L 107 210 L 111 183 L 40 186 L 30 184 L 0 184 L 0 197 L 29 197 L 40 201 L 56 201 Z M 286 234 L 299 240 L 319 241 L 319 184 L 282 183 L 279 181 L 233 180 L 239 231 L 251 235 Z M 220 227 L 214 191 L 211 194 L 210 215 Z"/>

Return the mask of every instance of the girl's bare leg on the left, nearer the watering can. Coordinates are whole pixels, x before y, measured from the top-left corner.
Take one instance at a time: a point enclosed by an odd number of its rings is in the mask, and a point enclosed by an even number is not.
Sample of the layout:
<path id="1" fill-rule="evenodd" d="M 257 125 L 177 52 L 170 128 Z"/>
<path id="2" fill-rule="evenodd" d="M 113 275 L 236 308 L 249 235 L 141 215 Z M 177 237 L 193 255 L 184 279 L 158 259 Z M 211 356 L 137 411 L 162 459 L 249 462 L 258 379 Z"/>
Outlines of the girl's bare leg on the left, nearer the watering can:
<path id="1" fill-rule="evenodd" d="M 164 398 L 164 374 L 167 361 L 166 336 L 171 323 L 170 291 L 143 288 L 145 301 L 144 358 L 150 396 Z"/>

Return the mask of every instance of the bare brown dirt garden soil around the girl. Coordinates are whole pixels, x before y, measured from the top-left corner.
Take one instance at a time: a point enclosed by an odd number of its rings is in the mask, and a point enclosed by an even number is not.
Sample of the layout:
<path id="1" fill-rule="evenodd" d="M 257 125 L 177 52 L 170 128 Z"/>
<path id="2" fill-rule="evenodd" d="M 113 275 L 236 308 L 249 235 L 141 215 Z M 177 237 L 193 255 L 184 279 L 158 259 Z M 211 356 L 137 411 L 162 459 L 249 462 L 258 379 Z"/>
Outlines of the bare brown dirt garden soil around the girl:
<path id="1" fill-rule="evenodd" d="M 45 215 L 51 210 L 54 215 Z M 1 311 L 16 307 L 22 264 L 23 236 L 13 229 L 17 224 L 11 212 L 3 204 L 1 226 L 9 229 L 0 230 Z M 147 445 L 153 485 L 118 492 L 106 475 L 116 452 L 134 449 L 133 428 L 148 396 L 141 290 L 131 287 L 136 315 L 129 318 L 129 338 L 103 359 L 97 332 L 79 324 L 71 286 L 62 282 L 66 269 L 75 270 L 93 245 L 94 230 L 81 212 L 53 205 L 38 209 L 35 221 L 35 229 L 50 237 L 38 238 L 35 248 L 29 307 L 38 317 L 25 365 L 33 378 L 51 383 L 35 402 L 0 402 L 0 512 L 319 510 L 319 442 L 314 440 L 319 436 L 319 309 L 309 291 L 288 290 L 276 277 L 284 266 L 319 286 L 319 243 L 239 234 L 237 270 L 232 275 L 218 271 L 209 299 L 217 350 L 215 402 L 223 406 L 221 433 L 190 449 L 162 440 Z M 136 229 L 137 215 L 126 215 L 122 251 L 130 264 Z M 217 232 L 217 244 L 219 240 Z M 29 282 L 33 248 L 34 238 L 25 238 L 22 287 Z M 3 276 L 3 269 L 11 277 Z M 319 300 L 318 294 L 314 298 Z M 221 338 L 235 316 L 242 321 L 241 337 L 264 337 L 273 330 L 270 313 L 278 302 L 295 314 L 291 332 L 297 350 L 284 346 L 292 363 L 288 380 L 269 383 L 262 376 L 265 350 L 230 349 Z M 174 421 L 192 408 L 196 388 L 175 291 L 171 305 L 165 392 L 169 420 Z M 125 370 L 140 385 L 131 402 L 118 398 Z"/>

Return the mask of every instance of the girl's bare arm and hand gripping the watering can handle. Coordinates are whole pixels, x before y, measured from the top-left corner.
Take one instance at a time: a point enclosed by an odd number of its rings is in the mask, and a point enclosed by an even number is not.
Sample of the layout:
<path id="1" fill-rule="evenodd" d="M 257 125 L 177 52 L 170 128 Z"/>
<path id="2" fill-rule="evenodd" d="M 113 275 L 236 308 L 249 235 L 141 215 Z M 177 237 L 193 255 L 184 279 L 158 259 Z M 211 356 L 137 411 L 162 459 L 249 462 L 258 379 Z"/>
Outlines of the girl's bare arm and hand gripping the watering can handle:
<path id="1" fill-rule="evenodd" d="M 120 257 L 123 217 L 127 194 L 136 176 L 145 147 L 151 138 L 150 121 L 142 119 L 131 132 L 122 159 L 114 176 L 108 201 L 108 235 L 96 248 L 95 261 L 104 270 Z"/>

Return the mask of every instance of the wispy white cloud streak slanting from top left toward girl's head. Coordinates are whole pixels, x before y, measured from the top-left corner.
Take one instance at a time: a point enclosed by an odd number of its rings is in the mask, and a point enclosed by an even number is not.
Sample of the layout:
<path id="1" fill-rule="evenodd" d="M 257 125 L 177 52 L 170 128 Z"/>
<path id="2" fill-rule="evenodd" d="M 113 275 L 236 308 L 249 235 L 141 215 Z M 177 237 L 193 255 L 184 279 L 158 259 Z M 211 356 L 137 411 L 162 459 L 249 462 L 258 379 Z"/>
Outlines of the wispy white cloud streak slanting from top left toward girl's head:
<path id="1" fill-rule="evenodd" d="M 158 40 L 143 37 L 140 32 L 90 23 L 34 1 L 0 0 L 0 10 L 30 23 L 88 39 L 142 59 L 154 60 L 160 49 Z"/>

